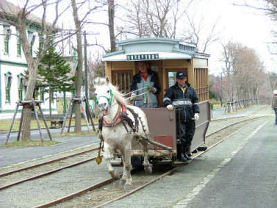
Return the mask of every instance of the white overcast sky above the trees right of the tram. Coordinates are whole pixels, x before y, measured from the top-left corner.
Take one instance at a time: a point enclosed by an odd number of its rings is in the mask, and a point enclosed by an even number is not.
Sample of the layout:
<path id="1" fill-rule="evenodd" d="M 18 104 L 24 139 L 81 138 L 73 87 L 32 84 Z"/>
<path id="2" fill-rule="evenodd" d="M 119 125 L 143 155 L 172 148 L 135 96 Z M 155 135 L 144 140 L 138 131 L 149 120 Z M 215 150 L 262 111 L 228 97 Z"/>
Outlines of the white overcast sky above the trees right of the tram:
<path id="1" fill-rule="evenodd" d="M 274 23 L 269 17 L 264 15 L 263 11 L 255 10 L 242 6 L 234 6 L 233 2 L 243 3 L 233 0 L 197 0 L 204 17 L 211 19 L 219 19 L 217 29 L 222 30 L 220 37 L 222 42 L 226 44 L 229 40 L 238 41 L 240 44 L 249 48 L 254 48 L 260 59 L 264 62 L 267 70 L 276 70 L 277 55 L 271 55 L 267 48 L 267 43 L 271 41 L 271 29 Z M 251 0 L 249 3 L 255 3 Z M 260 1 L 262 3 L 262 1 Z M 211 73 L 218 74 L 222 71 L 222 64 L 218 62 L 222 53 L 222 46 L 217 43 L 208 48 L 207 53 L 211 54 L 209 69 Z M 274 60 L 275 59 L 275 60 Z"/>

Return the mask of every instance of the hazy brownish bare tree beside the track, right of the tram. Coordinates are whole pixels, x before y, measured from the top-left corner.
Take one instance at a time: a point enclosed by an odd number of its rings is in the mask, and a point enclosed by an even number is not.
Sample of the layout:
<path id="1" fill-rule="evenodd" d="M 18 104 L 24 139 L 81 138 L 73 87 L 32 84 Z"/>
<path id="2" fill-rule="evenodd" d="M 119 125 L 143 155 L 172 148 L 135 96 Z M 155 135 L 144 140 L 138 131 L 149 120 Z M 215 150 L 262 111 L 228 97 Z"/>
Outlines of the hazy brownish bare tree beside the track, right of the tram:
<path id="1" fill-rule="evenodd" d="M 222 53 L 223 70 L 226 75 L 230 101 L 258 97 L 264 82 L 265 67 L 255 50 L 239 43 L 229 42 Z"/>

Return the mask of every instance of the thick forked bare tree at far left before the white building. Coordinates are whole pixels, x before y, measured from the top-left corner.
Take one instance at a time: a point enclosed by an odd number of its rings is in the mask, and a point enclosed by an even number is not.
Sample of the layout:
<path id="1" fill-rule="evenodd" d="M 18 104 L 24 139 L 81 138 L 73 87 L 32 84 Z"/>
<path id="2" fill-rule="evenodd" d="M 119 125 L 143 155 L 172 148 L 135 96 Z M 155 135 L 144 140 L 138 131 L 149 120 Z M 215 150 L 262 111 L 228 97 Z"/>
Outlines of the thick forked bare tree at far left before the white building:
<path id="1" fill-rule="evenodd" d="M 42 0 L 37 4 L 31 4 L 28 0 L 24 2 L 24 6 L 19 8 L 18 6 L 9 3 L 8 1 L 0 1 L 0 17 L 3 21 L 15 26 L 19 31 L 19 38 L 21 40 L 21 47 L 26 57 L 26 62 L 28 64 L 28 84 L 26 89 L 26 97 L 24 100 L 32 100 L 33 92 L 35 88 L 35 82 L 37 79 L 37 68 L 39 62 L 42 60 L 46 51 L 50 46 L 55 44 L 55 34 L 57 35 L 57 19 L 62 15 L 65 10 L 59 12 L 59 3 L 60 1 L 47 1 Z M 53 15 L 55 18 L 52 23 L 46 22 L 46 9 L 48 6 L 55 6 Z M 42 8 L 42 17 L 36 17 L 32 15 L 31 12 Z M 40 48 L 37 53 L 37 57 L 34 58 L 29 49 L 29 40 L 27 35 L 27 30 L 29 26 L 39 25 L 39 46 L 42 44 L 44 48 Z M 31 106 L 24 106 L 23 112 L 23 122 L 22 122 L 22 140 L 30 140 L 30 115 L 31 115 Z"/>

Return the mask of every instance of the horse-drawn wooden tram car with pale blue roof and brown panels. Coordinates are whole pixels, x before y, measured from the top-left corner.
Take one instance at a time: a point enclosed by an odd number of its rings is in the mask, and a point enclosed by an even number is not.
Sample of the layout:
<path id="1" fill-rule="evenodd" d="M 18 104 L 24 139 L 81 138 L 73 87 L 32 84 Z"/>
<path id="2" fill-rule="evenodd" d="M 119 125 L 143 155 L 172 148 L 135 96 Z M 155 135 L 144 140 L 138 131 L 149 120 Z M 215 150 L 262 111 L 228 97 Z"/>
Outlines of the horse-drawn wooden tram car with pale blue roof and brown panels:
<path id="1" fill-rule="evenodd" d="M 112 84 L 123 93 L 129 93 L 129 84 L 133 75 L 139 73 L 138 61 L 148 61 L 150 68 L 157 73 L 161 92 L 157 95 L 158 108 L 142 108 L 148 119 L 150 140 L 170 146 L 172 151 L 161 146 L 149 144 L 148 156 L 152 164 L 171 163 L 172 166 L 182 165 L 177 160 L 176 117 L 175 110 L 168 111 L 163 107 L 166 90 L 175 84 L 176 73 L 185 71 L 188 83 L 195 88 L 199 97 L 199 120 L 195 123 L 195 133 L 188 153 L 206 149 L 205 135 L 211 120 L 208 97 L 208 57 L 209 55 L 195 52 L 195 44 L 179 39 L 140 38 L 117 42 L 119 50 L 103 55 L 105 74 Z M 140 146 L 132 148 L 133 166 L 141 164 L 143 151 Z M 112 162 L 121 165 L 120 160 Z"/>

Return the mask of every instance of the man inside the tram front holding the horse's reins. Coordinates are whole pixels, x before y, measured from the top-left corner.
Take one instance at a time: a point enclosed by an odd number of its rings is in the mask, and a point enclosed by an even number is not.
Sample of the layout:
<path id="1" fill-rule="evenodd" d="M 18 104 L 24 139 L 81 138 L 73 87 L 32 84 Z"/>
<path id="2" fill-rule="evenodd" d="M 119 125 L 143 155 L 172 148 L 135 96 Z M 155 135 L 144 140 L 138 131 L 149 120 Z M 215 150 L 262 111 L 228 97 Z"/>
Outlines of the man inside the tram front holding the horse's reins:
<path id="1" fill-rule="evenodd" d="M 149 62 L 137 64 L 139 73 L 131 79 L 130 90 L 135 92 L 132 93 L 130 100 L 134 101 L 134 106 L 139 108 L 156 108 L 158 106 L 156 95 L 161 91 L 158 75 L 150 70 Z"/>

